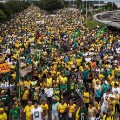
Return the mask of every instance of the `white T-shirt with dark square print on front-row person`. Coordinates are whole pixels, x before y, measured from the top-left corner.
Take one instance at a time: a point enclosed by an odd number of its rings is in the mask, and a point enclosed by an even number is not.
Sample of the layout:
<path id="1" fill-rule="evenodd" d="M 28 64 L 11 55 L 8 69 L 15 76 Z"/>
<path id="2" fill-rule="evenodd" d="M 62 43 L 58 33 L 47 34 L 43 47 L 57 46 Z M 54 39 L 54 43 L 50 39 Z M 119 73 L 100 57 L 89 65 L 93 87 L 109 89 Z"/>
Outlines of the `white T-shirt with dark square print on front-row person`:
<path id="1" fill-rule="evenodd" d="M 33 115 L 33 120 L 42 120 L 41 113 L 43 112 L 43 109 L 41 107 L 33 108 L 31 110 L 31 114 Z"/>

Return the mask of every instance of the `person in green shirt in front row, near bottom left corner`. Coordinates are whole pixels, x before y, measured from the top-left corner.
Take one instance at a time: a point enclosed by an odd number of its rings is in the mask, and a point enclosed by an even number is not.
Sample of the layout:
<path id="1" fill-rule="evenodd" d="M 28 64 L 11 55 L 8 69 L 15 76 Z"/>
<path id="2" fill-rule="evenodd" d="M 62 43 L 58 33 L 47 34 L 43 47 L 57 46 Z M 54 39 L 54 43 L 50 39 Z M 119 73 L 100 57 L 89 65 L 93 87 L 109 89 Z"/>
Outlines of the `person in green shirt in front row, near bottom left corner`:
<path id="1" fill-rule="evenodd" d="M 9 120 L 19 120 L 20 119 L 20 108 L 16 107 L 15 103 L 9 111 Z"/>

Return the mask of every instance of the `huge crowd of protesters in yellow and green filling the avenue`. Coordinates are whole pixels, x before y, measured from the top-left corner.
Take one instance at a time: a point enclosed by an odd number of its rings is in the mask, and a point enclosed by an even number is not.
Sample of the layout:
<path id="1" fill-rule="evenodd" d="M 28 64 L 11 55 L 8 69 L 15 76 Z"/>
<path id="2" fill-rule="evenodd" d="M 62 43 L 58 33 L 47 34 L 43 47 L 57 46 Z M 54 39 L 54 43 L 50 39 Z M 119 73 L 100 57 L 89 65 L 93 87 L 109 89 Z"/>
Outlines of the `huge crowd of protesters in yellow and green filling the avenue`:
<path id="1" fill-rule="evenodd" d="M 120 119 L 120 35 L 84 18 L 31 5 L 0 25 L 0 120 Z"/>

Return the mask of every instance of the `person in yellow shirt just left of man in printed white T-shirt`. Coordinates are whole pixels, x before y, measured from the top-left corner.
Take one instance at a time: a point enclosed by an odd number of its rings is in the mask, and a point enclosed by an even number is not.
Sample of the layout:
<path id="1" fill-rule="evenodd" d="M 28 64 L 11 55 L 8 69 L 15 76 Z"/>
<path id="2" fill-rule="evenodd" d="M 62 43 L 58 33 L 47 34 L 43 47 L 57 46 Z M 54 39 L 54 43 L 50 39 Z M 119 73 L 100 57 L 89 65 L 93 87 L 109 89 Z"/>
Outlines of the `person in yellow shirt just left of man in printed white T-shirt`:
<path id="1" fill-rule="evenodd" d="M 28 101 L 28 105 L 25 106 L 24 112 L 26 114 L 26 120 L 30 120 L 31 110 L 34 108 L 32 101 Z"/>

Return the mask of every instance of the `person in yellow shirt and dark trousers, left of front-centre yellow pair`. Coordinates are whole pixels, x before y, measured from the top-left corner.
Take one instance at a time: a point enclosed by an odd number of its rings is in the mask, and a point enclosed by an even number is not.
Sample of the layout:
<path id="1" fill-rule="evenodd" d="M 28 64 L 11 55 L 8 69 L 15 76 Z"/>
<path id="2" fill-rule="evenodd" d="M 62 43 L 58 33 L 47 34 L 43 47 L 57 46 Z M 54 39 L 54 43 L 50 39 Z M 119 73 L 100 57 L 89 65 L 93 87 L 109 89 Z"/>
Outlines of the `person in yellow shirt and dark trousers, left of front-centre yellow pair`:
<path id="1" fill-rule="evenodd" d="M 64 102 L 64 100 L 61 100 L 61 103 L 58 105 L 58 112 L 60 115 L 60 120 L 66 120 L 67 119 L 67 104 Z"/>

